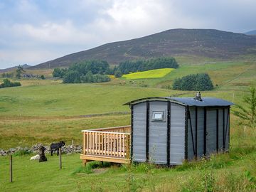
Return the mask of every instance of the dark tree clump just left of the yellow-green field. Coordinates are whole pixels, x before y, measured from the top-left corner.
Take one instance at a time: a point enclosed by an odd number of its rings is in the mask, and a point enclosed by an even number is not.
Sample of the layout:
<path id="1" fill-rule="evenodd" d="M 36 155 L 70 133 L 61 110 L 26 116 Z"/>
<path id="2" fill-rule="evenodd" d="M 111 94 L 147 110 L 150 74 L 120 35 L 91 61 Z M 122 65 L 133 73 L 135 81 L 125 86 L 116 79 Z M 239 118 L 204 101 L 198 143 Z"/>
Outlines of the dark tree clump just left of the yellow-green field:
<path id="1" fill-rule="evenodd" d="M 89 60 L 75 63 L 67 69 L 55 68 L 53 77 L 63 78 L 64 83 L 110 81 L 110 65 L 105 60 Z"/>

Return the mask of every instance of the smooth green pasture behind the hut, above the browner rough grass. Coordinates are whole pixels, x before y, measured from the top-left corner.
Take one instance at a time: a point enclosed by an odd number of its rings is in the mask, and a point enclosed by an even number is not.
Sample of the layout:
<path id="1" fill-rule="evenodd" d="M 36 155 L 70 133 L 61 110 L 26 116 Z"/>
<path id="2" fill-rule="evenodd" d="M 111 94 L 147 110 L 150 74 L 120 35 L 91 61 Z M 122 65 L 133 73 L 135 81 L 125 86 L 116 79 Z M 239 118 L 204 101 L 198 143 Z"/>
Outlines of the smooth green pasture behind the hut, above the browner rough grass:
<path id="1" fill-rule="evenodd" d="M 1 116 L 75 116 L 128 112 L 139 97 L 171 95 L 169 90 L 92 84 L 39 85 L 0 89 Z M 176 91 L 174 91 L 176 92 Z"/>

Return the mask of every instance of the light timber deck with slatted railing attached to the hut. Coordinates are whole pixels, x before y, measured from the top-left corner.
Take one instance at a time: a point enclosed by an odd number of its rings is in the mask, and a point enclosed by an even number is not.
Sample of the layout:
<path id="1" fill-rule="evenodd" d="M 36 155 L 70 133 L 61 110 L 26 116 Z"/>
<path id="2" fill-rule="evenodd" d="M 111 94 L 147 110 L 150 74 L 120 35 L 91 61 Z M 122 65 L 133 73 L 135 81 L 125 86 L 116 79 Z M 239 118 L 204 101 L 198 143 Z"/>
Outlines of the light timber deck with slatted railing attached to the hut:
<path id="1" fill-rule="evenodd" d="M 108 161 L 127 164 L 130 161 L 131 126 L 82 130 L 82 164 Z"/>

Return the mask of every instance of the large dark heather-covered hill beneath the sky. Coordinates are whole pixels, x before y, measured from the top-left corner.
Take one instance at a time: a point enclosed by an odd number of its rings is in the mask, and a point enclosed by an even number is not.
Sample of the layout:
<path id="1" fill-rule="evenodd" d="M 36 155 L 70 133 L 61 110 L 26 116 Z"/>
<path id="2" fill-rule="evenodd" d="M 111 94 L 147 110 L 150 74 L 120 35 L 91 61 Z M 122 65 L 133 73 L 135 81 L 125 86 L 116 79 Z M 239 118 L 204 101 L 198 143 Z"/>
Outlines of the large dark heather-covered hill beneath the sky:
<path id="1" fill-rule="evenodd" d="M 69 66 L 80 60 L 107 60 L 117 64 L 124 60 L 159 56 L 198 56 L 230 59 L 256 53 L 256 36 L 214 29 L 171 29 L 142 38 L 107 43 L 97 48 L 65 55 L 32 68 Z"/>

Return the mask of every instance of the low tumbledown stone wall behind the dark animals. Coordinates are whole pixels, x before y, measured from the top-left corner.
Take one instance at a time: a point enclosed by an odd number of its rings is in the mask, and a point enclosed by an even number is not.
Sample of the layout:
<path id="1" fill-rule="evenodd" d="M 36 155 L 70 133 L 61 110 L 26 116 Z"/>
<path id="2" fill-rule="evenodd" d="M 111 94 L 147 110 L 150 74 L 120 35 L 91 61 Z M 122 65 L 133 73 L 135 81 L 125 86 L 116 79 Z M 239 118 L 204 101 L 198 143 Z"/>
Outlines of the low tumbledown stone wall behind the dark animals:
<path id="1" fill-rule="evenodd" d="M 26 151 L 27 153 L 33 153 L 33 154 L 38 154 L 39 147 L 43 146 L 43 144 L 35 144 L 29 149 L 28 147 L 21 147 L 17 146 L 16 148 L 11 148 L 11 149 L 0 149 L 0 156 L 6 156 L 9 154 L 14 154 L 15 152 L 18 151 Z M 50 146 L 44 146 L 46 148 L 46 153 L 50 153 Z M 82 146 L 80 145 L 75 145 L 71 144 L 68 146 L 63 146 L 62 147 L 62 153 L 63 154 L 74 154 L 74 153 L 82 153 Z"/>

